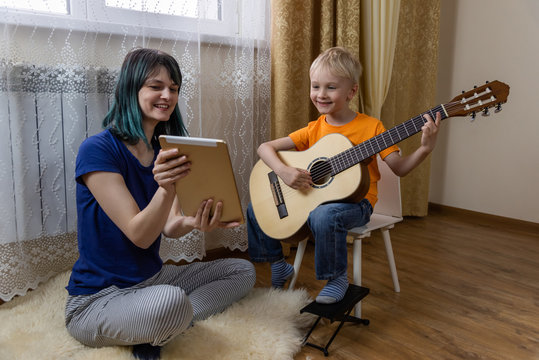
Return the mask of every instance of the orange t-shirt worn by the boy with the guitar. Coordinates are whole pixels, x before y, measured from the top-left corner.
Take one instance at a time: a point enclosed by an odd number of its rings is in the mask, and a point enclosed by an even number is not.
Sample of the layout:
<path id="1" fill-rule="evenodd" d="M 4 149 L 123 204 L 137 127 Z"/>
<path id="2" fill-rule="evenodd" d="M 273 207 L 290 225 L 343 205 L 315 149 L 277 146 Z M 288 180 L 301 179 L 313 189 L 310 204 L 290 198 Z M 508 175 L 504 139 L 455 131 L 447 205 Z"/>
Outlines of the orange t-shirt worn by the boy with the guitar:
<path id="1" fill-rule="evenodd" d="M 326 122 L 326 116 L 321 115 L 317 120 L 311 121 L 306 127 L 294 131 L 288 135 L 296 150 L 304 151 L 313 146 L 318 140 L 328 134 L 339 133 L 346 136 L 353 145 L 358 145 L 370 138 L 386 131 L 382 122 L 371 116 L 357 113 L 356 117 L 349 123 L 342 126 L 333 126 Z M 392 152 L 399 151 L 396 145 L 392 145 L 380 152 L 380 157 L 384 159 Z M 376 161 L 371 161 L 368 165 L 370 175 L 370 186 L 365 198 L 374 207 L 378 201 L 377 182 L 380 180 L 380 172 Z"/>

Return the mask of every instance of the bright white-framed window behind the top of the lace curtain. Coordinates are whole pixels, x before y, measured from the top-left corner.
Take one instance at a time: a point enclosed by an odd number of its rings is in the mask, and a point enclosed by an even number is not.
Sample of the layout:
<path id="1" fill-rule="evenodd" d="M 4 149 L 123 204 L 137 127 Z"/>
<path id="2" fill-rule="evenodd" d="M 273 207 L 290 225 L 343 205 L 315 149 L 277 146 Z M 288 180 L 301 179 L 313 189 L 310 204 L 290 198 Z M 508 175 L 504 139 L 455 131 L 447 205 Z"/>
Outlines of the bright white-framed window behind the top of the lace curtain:
<path id="1" fill-rule="evenodd" d="M 241 30 L 241 1 L 253 0 L 0 0 L 0 22 L 122 35 L 139 34 L 144 27 L 145 36 L 178 38 L 175 32 L 196 32 L 234 37 Z"/>

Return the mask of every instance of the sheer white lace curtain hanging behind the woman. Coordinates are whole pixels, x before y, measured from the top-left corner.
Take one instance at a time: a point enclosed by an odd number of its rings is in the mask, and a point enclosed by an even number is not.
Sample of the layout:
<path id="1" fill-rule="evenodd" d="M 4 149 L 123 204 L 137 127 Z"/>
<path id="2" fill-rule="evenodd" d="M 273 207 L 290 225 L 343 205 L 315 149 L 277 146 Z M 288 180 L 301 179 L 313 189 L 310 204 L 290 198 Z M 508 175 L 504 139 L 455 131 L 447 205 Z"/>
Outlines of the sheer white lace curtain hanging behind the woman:
<path id="1" fill-rule="evenodd" d="M 126 9 L 141 1 L 128 3 L 123 1 Z M 0 299 L 23 295 L 76 260 L 78 146 L 101 131 L 118 70 L 135 46 L 158 48 L 178 60 L 187 128 L 191 136 L 228 142 L 247 205 L 255 149 L 269 138 L 269 2 L 215 0 L 218 17 L 228 21 L 222 31 L 210 29 L 219 21 L 200 16 L 212 1 L 185 3 L 197 3 L 199 18 L 175 19 L 178 29 L 165 21 L 170 15 L 156 21 L 149 5 L 132 12 L 135 23 L 123 21 L 131 15 L 113 16 L 118 9 L 103 13 L 104 5 L 88 6 L 67 21 L 0 8 Z M 245 227 L 165 238 L 161 255 L 192 261 L 221 246 L 245 250 Z"/>

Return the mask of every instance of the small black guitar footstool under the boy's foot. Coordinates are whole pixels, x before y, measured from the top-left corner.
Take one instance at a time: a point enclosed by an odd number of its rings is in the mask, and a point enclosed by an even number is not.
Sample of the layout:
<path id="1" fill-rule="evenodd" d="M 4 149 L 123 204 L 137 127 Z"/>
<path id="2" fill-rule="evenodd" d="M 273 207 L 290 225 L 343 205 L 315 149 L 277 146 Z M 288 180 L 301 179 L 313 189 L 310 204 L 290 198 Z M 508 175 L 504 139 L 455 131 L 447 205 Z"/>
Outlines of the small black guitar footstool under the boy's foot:
<path id="1" fill-rule="evenodd" d="M 303 345 L 308 345 L 311 347 L 314 347 L 315 349 L 318 349 L 324 353 L 324 356 L 328 356 L 328 348 L 341 330 L 342 326 L 345 322 L 353 322 L 356 324 L 363 324 L 363 325 L 369 325 L 369 320 L 367 319 L 360 319 L 355 316 L 351 316 L 350 312 L 352 312 L 352 309 L 354 306 L 361 301 L 365 296 L 369 294 L 369 289 L 353 284 L 348 285 L 348 289 L 346 290 L 346 294 L 344 295 L 344 298 L 334 304 L 319 304 L 316 301 L 311 302 L 309 305 L 305 306 L 303 309 L 300 310 L 300 313 L 308 312 L 314 315 L 318 315 L 318 318 L 314 322 L 313 326 L 305 335 L 305 338 L 303 339 Z M 309 339 L 309 336 L 313 332 L 314 328 L 318 323 L 320 322 L 320 319 L 326 318 L 331 323 L 334 321 L 340 321 L 339 327 L 337 327 L 337 330 L 333 333 L 331 338 L 329 339 L 326 346 L 322 347 L 310 342 L 307 342 Z"/>

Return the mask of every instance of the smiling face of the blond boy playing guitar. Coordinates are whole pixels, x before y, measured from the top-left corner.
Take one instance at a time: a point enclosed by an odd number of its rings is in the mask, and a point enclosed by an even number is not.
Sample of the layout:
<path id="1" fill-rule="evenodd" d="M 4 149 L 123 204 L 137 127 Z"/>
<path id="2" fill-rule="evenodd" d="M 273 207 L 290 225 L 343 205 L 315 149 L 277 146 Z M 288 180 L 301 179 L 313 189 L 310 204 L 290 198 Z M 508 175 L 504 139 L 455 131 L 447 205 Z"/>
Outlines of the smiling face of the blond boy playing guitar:
<path id="1" fill-rule="evenodd" d="M 326 67 L 311 73 L 311 101 L 321 114 L 339 118 L 350 112 L 348 103 L 357 91 L 352 80 L 333 75 Z"/>

